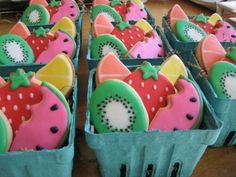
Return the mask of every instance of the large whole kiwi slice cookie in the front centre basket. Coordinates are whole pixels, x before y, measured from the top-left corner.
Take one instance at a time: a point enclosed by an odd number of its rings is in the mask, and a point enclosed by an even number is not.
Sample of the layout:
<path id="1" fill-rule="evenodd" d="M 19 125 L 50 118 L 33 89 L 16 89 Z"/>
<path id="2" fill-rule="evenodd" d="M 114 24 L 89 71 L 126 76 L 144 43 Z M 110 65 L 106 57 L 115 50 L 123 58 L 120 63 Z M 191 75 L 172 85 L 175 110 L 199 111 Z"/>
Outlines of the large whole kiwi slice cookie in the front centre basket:
<path id="1" fill-rule="evenodd" d="M 90 100 L 91 121 L 99 133 L 147 130 L 149 120 L 137 92 L 123 81 L 103 82 Z"/>

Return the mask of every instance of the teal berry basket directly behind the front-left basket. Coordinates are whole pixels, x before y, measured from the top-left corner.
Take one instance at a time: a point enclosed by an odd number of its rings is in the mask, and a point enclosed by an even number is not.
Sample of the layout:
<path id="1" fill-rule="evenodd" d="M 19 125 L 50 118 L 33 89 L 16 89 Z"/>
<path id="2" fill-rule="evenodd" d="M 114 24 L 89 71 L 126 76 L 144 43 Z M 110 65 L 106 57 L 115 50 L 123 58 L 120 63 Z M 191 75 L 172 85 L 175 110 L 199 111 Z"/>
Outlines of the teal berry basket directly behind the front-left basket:
<path id="1" fill-rule="evenodd" d="M 83 11 L 81 11 L 79 19 L 76 21 L 76 28 L 77 28 L 77 35 L 75 38 L 76 42 L 76 51 L 74 54 L 74 57 L 72 59 L 72 62 L 74 64 L 75 71 L 77 73 L 78 71 L 78 64 L 79 64 L 79 57 L 81 52 L 81 42 L 82 42 L 82 21 L 83 21 Z M 35 28 L 38 28 L 39 26 L 30 26 L 30 31 L 33 31 Z M 46 25 L 44 26 L 46 28 L 51 28 L 52 25 Z M 9 73 L 10 71 L 15 71 L 17 68 L 24 68 L 27 70 L 37 70 L 44 66 L 45 64 L 38 64 L 38 63 L 32 63 L 32 64 L 11 64 L 11 65 L 2 65 L 0 64 L 0 75 L 7 77 L 8 75 L 5 75 L 5 73 Z"/>

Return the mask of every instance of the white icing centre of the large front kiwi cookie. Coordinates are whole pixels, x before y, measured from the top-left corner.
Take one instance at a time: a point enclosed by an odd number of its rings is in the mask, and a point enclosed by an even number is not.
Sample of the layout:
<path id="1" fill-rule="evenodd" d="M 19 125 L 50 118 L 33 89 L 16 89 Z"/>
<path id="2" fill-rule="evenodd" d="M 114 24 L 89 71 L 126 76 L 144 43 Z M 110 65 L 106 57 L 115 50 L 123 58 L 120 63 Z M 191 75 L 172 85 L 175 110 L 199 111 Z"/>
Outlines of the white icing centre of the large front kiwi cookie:
<path id="1" fill-rule="evenodd" d="M 112 101 L 106 105 L 106 118 L 109 124 L 118 129 L 125 129 L 130 125 L 129 117 L 132 115 L 120 102 Z"/>

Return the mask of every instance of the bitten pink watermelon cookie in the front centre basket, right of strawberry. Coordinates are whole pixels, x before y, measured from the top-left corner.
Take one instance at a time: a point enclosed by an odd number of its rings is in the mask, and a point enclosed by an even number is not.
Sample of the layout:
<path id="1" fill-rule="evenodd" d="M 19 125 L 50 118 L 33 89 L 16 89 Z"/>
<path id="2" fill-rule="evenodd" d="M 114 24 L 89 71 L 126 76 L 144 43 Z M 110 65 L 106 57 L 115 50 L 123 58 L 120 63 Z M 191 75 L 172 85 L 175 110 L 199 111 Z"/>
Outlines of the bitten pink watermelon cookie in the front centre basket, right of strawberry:
<path id="1" fill-rule="evenodd" d="M 169 96 L 168 105 L 159 109 L 149 130 L 188 130 L 199 126 L 203 111 L 200 89 L 183 77 L 177 80 L 175 87 L 178 93 Z"/>

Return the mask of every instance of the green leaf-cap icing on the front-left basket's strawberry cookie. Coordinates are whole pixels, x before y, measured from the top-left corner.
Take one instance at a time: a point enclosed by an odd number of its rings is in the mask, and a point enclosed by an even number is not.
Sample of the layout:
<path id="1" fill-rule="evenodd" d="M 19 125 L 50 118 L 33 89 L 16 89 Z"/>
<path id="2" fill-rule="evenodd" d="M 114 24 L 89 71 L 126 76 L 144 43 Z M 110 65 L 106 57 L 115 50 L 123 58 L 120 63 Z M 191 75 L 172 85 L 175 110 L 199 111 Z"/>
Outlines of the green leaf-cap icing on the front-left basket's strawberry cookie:
<path id="1" fill-rule="evenodd" d="M 33 72 L 25 73 L 23 69 L 17 69 L 15 73 L 10 75 L 11 89 L 15 90 L 20 86 L 29 87 L 30 81 L 29 77 Z"/>

